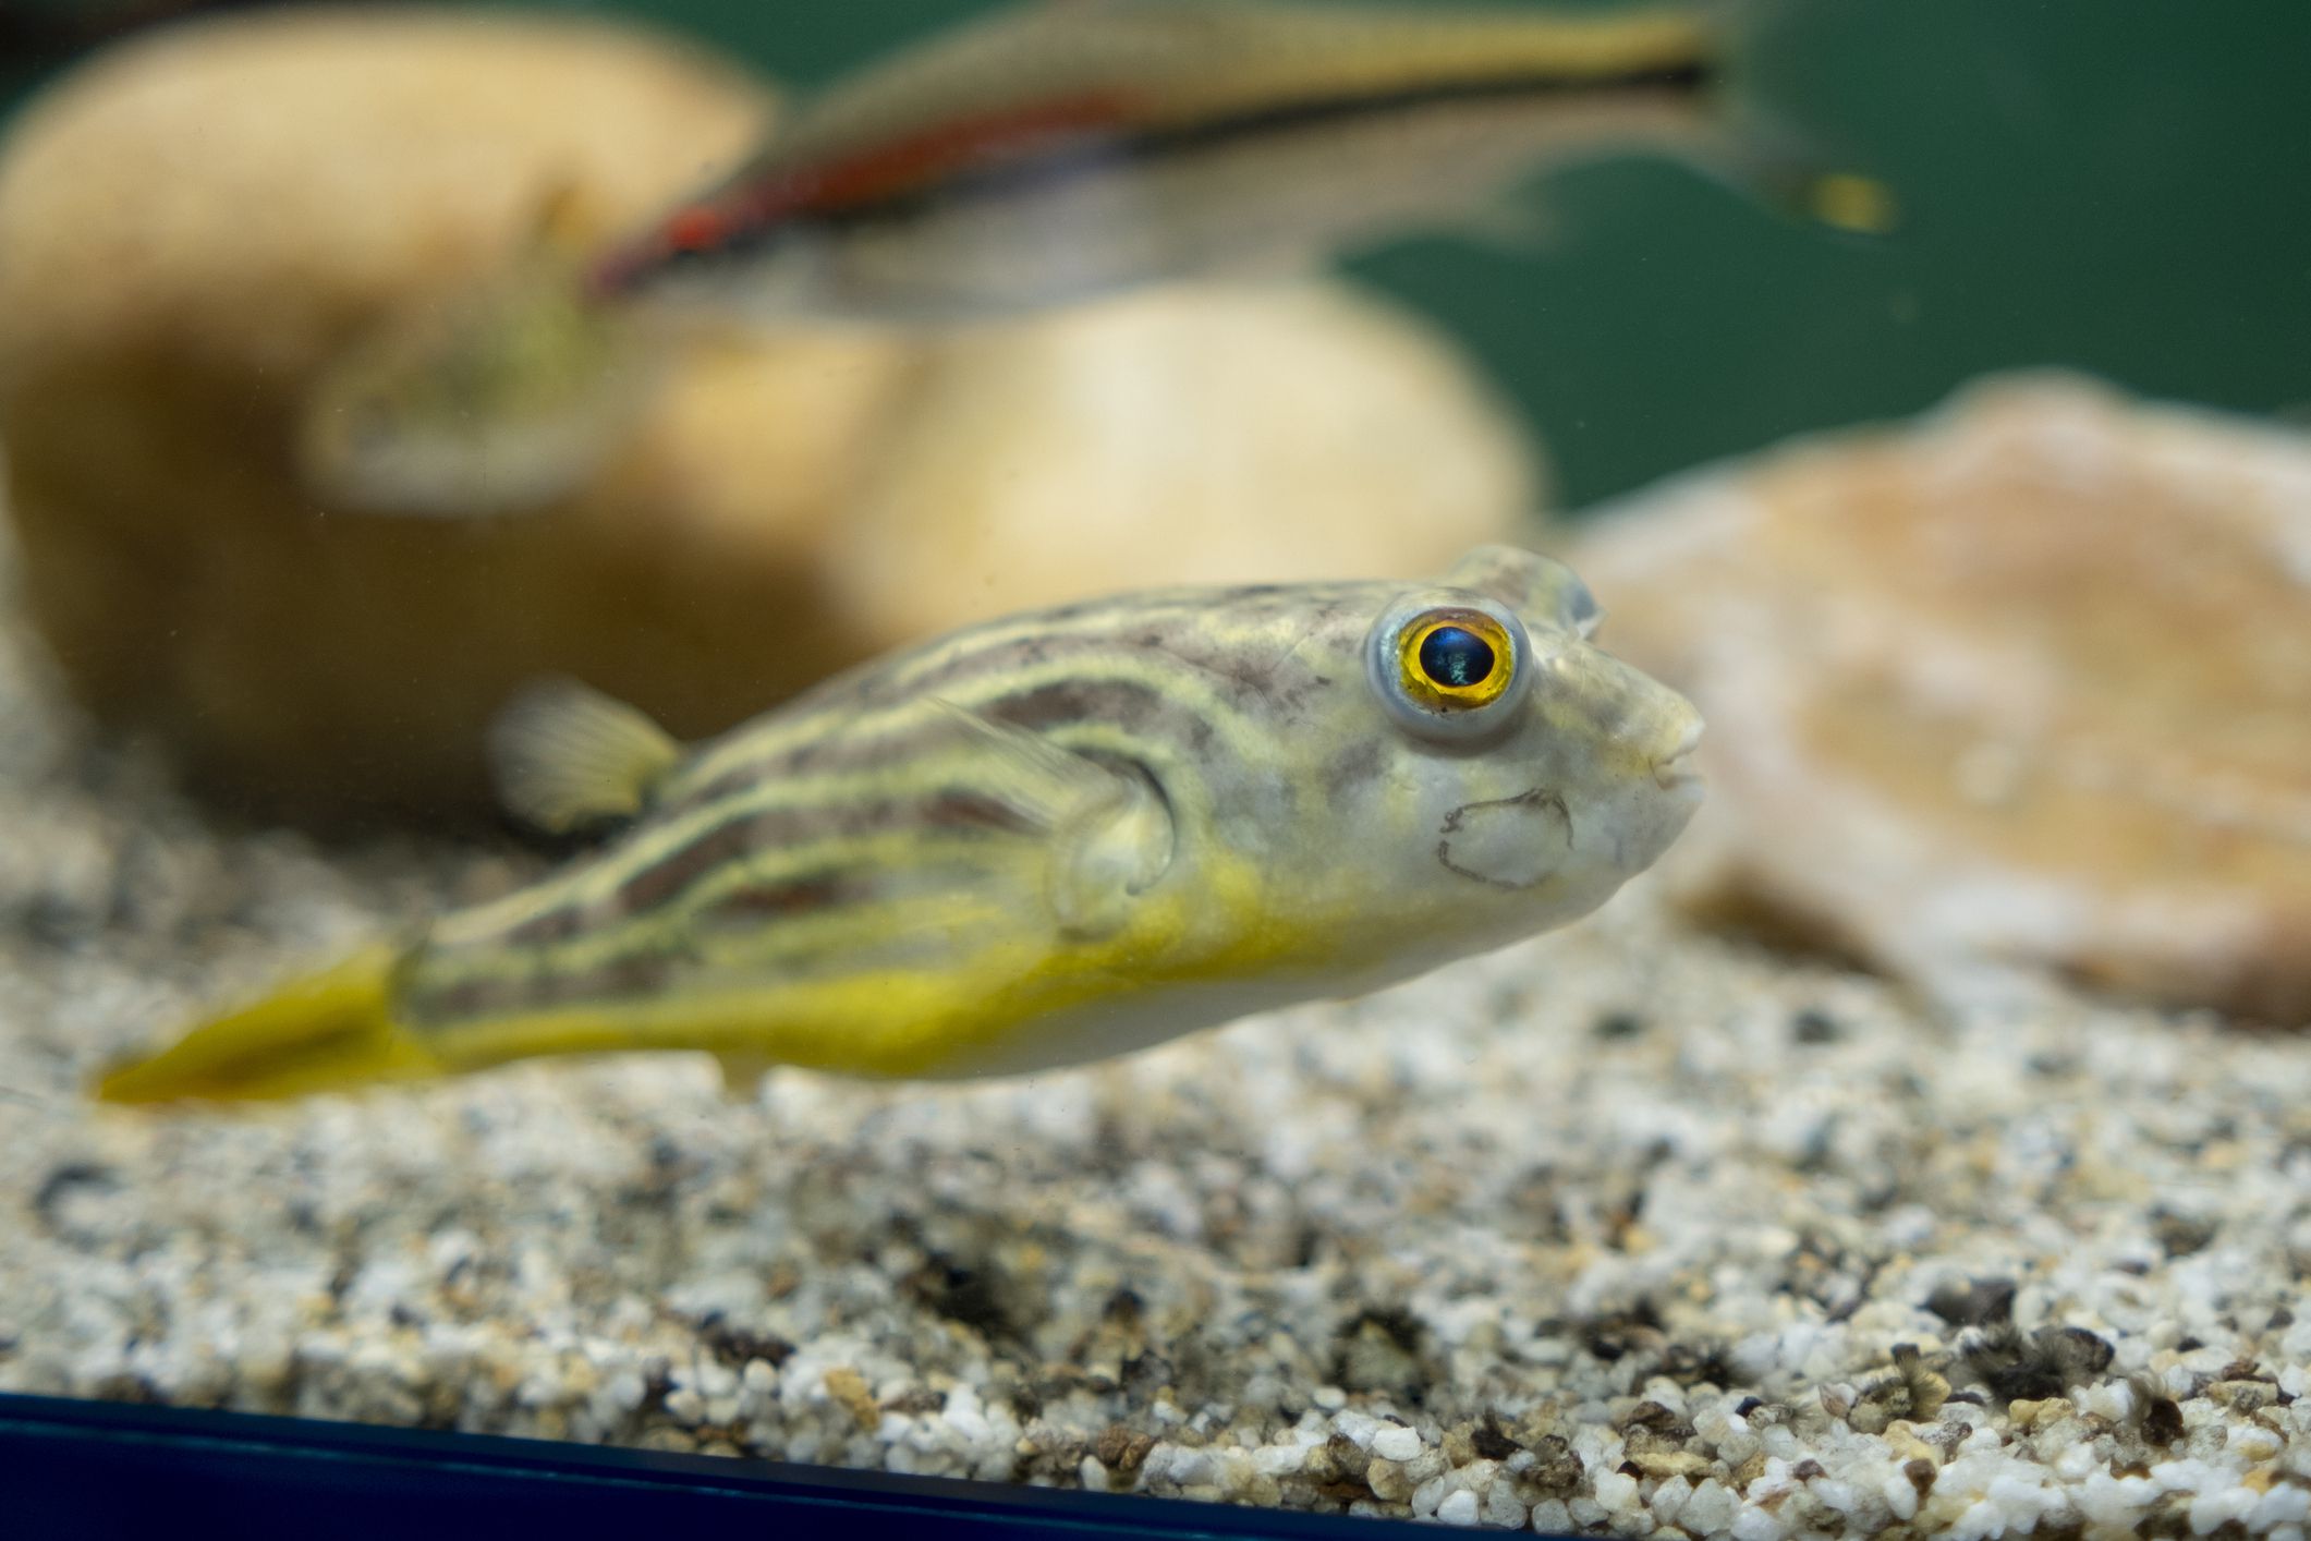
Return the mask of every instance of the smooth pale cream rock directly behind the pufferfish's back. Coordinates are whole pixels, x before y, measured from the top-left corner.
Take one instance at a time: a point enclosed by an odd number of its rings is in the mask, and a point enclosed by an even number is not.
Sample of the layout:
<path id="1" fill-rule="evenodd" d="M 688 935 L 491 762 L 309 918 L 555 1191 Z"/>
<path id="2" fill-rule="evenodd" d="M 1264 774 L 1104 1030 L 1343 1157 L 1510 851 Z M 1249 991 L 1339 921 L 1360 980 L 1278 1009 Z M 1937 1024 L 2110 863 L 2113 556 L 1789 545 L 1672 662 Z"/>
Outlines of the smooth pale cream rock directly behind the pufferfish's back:
<path id="1" fill-rule="evenodd" d="M 1428 575 L 1541 490 L 1433 326 L 1195 284 L 934 342 L 830 552 L 876 635 L 1151 582 Z"/>

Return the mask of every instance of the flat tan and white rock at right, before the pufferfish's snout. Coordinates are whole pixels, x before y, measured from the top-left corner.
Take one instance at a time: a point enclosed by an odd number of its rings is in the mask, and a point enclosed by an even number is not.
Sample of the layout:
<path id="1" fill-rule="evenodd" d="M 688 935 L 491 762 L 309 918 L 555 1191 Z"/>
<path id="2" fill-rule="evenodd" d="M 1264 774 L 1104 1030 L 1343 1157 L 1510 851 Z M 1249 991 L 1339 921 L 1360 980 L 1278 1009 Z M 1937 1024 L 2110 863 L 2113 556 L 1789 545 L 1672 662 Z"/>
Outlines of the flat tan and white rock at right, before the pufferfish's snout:
<path id="1" fill-rule="evenodd" d="M 1694 903 L 1955 1000 L 2311 1021 L 2311 439 L 2018 377 L 1636 497 L 1574 561 L 1710 721 Z"/>

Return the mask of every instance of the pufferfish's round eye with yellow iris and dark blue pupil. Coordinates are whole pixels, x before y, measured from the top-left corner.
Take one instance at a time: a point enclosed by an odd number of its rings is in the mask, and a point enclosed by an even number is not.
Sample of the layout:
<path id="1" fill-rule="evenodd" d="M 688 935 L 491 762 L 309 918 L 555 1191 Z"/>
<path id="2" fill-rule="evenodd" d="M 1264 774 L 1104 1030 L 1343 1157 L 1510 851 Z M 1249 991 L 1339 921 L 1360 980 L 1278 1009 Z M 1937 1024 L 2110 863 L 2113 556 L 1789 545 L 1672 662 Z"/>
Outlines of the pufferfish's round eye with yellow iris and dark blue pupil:
<path id="1" fill-rule="evenodd" d="M 1511 721 L 1532 684 L 1532 642 L 1502 605 L 1405 603 L 1366 642 L 1373 693 L 1424 739 L 1474 739 Z"/>

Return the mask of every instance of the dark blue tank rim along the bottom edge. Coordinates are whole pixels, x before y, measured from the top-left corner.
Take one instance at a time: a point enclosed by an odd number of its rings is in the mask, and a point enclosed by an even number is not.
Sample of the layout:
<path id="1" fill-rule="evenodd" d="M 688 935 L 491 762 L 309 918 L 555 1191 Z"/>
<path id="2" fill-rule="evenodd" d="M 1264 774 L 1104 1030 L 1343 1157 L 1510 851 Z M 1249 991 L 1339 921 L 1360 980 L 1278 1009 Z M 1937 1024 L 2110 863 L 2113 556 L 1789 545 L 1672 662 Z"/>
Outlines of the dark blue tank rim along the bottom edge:
<path id="1" fill-rule="evenodd" d="M 9 1534 L 139 1541 L 559 1541 L 733 1520 L 779 1541 L 1435 1534 L 1412 1520 L 21 1393 L 0 1393 L 0 1495 Z"/>

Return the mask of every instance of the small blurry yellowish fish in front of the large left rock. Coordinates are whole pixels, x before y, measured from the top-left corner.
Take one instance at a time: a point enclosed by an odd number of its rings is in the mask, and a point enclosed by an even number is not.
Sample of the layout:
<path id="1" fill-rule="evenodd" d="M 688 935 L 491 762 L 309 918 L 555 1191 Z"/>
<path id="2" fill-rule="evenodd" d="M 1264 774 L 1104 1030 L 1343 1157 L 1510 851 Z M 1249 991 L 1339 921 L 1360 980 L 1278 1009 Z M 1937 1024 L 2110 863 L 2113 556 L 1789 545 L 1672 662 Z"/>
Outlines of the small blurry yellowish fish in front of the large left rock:
<path id="1" fill-rule="evenodd" d="M 298 418 L 307 485 L 347 508 L 444 518 L 580 485 L 624 441 L 661 360 L 647 328 L 587 293 L 594 245 L 575 194 L 557 189 L 513 261 L 335 358 Z"/>

